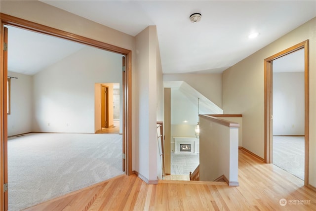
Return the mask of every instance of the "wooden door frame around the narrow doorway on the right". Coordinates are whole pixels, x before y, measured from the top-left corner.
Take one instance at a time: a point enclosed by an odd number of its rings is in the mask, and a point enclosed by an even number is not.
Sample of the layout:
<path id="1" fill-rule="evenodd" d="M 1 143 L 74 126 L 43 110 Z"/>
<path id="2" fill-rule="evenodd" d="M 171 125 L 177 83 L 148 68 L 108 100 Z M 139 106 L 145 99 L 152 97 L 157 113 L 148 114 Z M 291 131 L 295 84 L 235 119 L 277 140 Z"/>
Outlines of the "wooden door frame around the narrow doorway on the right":
<path id="1" fill-rule="evenodd" d="M 304 183 L 309 184 L 309 40 L 300 42 L 264 60 L 264 84 L 265 84 L 265 162 L 273 162 L 273 60 L 288 55 L 304 48 L 304 78 L 305 78 L 305 176 Z"/>

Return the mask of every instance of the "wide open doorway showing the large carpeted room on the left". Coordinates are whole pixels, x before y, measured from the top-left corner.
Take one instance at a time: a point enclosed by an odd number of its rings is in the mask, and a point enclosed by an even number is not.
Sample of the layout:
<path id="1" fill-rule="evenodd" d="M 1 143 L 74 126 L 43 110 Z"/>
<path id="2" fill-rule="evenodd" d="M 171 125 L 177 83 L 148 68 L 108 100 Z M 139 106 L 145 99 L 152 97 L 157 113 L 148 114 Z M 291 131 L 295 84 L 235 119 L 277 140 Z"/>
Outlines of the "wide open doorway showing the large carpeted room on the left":
<path id="1" fill-rule="evenodd" d="M 7 119 L 9 210 L 22 210 L 123 174 L 122 135 L 93 134 L 94 82 L 121 80 L 122 55 L 7 28 L 8 76 L 16 78 L 10 83 Z M 30 56 L 26 61 L 26 47 L 33 42 L 40 42 L 39 49 L 33 45 L 28 55 L 37 59 Z M 53 58 L 50 53 L 59 45 L 68 53 Z M 102 127 L 113 126 L 110 92 L 113 84 L 101 84 Z M 32 181 L 40 188 L 23 185 Z"/>

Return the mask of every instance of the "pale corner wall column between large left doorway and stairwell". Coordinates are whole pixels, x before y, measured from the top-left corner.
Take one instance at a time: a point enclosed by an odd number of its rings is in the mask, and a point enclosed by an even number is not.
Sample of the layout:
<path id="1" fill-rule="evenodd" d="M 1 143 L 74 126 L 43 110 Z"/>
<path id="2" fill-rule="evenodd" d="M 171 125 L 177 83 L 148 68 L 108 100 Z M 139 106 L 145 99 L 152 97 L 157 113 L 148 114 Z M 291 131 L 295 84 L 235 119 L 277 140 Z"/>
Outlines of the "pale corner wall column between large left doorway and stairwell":
<path id="1" fill-rule="evenodd" d="M 159 84 L 162 83 L 160 72 L 160 61 L 158 61 L 156 26 L 149 26 L 136 36 L 136 77 L 133 84 L 137 84 L 137 95 L 133 96 L 134 103 L 137 104 L 135 116 L 136 136 L 134 147 L 136 158 L 133 169 L 147 183 L 157 183 L 158 176 L 158 156 L 157 156 L 157 118 L 158 105 L 161 106 L 160 96 L 157 97 Z M 163 117 L 161 117 L 162 119 Z"/>

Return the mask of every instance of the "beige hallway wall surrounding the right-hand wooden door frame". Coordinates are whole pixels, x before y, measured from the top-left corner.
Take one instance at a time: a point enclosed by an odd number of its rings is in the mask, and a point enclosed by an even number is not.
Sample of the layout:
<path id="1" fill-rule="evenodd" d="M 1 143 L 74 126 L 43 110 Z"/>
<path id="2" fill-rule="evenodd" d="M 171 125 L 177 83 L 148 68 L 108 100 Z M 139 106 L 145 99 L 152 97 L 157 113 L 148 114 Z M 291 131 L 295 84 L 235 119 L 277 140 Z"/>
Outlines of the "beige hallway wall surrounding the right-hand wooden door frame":
<path id="1" fill-rule="evenodd" d="M 309 40 L 309 183 L 316 187 L 316 18 L 260 49 L 223 73 L 223 110 L 242 114 L 242 146 L 264 158 L 264 59 Z"/>

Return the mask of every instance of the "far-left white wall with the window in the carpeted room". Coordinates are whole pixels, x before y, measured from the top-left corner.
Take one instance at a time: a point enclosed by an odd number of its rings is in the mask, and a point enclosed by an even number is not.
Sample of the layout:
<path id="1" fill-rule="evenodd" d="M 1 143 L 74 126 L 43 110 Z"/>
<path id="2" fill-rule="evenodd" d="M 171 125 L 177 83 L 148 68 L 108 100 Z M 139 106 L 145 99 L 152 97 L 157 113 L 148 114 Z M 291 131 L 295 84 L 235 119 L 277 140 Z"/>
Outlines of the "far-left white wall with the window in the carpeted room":
<path id="1" fill-rule="evenodd" d="M 8 72 L 11 79 L 11 114 L 8 115 L 8 136 L 32 131 L 33 77 Z"/>

